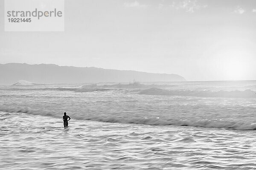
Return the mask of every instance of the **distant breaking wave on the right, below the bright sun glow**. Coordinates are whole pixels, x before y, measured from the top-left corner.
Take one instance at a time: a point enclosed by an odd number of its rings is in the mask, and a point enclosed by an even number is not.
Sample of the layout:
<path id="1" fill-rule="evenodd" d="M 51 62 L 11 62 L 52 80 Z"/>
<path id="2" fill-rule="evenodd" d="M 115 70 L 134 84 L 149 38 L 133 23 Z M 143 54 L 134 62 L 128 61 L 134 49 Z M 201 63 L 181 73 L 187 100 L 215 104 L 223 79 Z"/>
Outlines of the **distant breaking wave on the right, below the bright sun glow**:
<path id="1" fill-rule="evenodd" d="M 229 98 L 256 98 L 256 92 L 245 91 L 195 91 L 195 90 L 166 90 L 161 88 L 149 88 L 141 90 L 139 94 L 162 96 L 198 96 L 198 97 L 229 97 Z"/>

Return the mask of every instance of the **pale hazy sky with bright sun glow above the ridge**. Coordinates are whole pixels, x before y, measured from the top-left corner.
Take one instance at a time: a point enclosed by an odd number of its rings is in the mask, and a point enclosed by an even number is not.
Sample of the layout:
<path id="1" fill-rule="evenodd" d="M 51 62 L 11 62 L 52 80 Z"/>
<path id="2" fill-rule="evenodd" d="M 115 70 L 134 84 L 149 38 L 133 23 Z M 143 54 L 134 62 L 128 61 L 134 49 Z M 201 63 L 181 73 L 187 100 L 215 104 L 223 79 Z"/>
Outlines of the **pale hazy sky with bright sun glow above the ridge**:
<path id="1" fill-rule="evenodd" d="M 5 32 L 0 63 L 53 63 L 187 80 L 256 79 L 256 0 L 65 0 L 64 32 Z"/>

